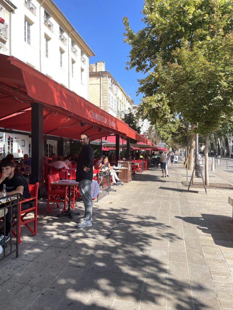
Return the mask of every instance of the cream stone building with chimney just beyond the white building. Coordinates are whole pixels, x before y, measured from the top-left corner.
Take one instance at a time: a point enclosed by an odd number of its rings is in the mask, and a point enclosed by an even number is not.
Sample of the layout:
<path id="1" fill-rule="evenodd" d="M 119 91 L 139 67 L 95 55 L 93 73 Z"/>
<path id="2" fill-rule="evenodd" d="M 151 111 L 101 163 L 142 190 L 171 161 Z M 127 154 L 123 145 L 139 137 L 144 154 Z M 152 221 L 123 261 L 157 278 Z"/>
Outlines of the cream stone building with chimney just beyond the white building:
<path id="1" fill-rule="evenodd" d="M 122 119 L 125 113 L 133 110 L 133 100 L 126 95 L 123 87 L 105 71 L 103 61 L 89 65 L 90 102 Z"/>

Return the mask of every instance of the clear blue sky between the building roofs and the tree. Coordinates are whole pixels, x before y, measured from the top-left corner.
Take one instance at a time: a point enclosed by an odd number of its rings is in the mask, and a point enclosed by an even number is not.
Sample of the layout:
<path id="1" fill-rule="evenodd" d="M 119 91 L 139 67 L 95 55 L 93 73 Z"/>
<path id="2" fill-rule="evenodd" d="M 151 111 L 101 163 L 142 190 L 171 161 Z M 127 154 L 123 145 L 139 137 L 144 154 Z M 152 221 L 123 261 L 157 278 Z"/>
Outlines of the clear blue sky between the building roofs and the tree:
<path id="1" fill-rule="evenodd" d="M 125 29 L 122 19 L 127 16 L 134 31 L 144 28 L 141 21 L 143 0 L 53 1 L 94 51 L 96 56 L 90 57 L 90 63 L 104 61 L 105 70 L 110 71 L 126 94 L 139 104 L 142 95 L 136 96 L 137 78 L 143 78 L 143 74 L 125 69 L 130 46 L 123 43 Z"/>

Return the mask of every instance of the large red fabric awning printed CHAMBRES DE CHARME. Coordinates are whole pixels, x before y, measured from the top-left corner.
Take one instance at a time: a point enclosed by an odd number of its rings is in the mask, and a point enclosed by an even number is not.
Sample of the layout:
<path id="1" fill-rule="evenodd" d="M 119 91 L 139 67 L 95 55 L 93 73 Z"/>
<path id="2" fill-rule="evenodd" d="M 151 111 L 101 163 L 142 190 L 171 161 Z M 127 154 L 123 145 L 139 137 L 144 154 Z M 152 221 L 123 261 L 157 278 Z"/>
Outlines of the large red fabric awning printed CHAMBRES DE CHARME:
<path id="1" fill-rule="evenodd" d="M 151 143 L 124 122 L 15 57 L 0 55 L 0 63 L 0 119 L 23 112 L 30 108 L 30 103 L 38 102 L 44 105 L 45 134 L 79 139 L 85 132 L 90 140 L 119 134 Z M 0 127 L 30 132 L 30 110 L 1 120 Z"/>

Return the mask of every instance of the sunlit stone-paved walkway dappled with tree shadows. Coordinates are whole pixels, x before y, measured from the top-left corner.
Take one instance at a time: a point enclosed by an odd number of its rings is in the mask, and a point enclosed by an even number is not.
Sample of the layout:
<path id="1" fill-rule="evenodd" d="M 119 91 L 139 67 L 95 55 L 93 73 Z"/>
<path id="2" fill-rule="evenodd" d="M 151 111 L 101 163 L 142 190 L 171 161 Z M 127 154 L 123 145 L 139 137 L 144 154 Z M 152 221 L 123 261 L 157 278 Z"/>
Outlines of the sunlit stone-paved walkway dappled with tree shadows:
<path id="1" fill-rule="evenodd" d="M 210 182 L 231 169 L 218 165 Z M 233 309 L 232 191 L 187 193 L 180 164 L 161 175 L 150 169 L 94 202 L 89 228 L 39 202 L 37 236 L 22 228 L 19 258 L 0 262 L 0 308 Z"/>

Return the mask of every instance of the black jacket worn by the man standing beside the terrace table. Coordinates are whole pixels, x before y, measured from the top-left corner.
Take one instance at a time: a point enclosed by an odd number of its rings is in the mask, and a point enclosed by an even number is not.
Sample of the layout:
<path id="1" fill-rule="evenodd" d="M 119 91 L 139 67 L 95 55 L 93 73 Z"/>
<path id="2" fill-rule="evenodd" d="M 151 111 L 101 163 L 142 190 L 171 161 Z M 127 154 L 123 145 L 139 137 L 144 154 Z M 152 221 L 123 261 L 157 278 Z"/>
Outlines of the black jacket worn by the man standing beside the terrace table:
<path id="1" fill-rule="evenodd" d="M 94 151 L 91 148 L 90 144 L 86 144 L 78 158 L 77 170 L 76 170 L 76 181 L 81 180 L 90 180 L 93 179 L 93 165 L 94 165 Z M 83 166 L 90 168 L 88 172 L 83 170 Z"/>

